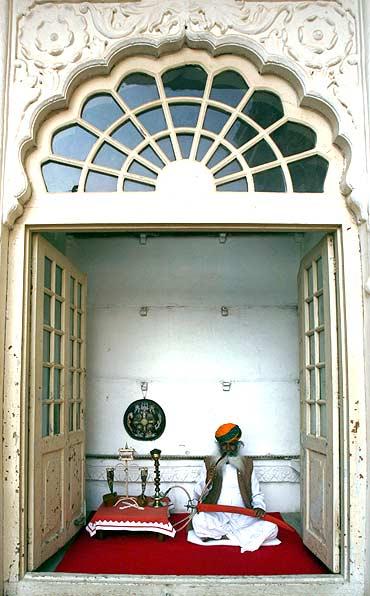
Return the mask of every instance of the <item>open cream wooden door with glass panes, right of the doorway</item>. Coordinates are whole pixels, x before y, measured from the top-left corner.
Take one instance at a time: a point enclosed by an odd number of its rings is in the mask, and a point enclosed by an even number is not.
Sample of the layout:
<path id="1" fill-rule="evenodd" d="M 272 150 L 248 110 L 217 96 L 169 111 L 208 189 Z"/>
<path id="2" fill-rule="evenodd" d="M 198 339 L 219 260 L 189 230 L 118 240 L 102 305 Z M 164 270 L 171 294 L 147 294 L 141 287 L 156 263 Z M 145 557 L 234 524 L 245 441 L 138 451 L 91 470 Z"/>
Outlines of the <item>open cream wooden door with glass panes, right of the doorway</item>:
<path id="1" fill-rule="evenodd" d="M 303 541 L 339 572 L 339 444 L 336 261 L 326 236 L 298 275 Z"/>

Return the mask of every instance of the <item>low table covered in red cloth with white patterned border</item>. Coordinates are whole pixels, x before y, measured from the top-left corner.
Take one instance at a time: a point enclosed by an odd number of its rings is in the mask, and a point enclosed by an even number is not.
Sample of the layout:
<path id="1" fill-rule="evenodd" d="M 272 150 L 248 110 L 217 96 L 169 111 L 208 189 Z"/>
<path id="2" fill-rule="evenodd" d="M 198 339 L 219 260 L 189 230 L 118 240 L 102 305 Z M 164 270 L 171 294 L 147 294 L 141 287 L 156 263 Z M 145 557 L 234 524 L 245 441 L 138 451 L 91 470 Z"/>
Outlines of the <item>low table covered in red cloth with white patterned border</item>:
<path id="1" fill-rule="evenodd" d="M 121 497 L 120 497 L 121 498 Z M 124 497 L 122 497 L 124 498 Z M 169 499 L 163 499 L 163 507 L 149 506 L 123 508 L 117 501 L 113 506 L 100 505 L 86 526 L 90 536 L 101 536 L 104 531 L 128 530 L 129 532 L 156 532 L 161 537 L 173 538 L 176 530 L 169 521 Z M 121 507 L 121 508 L 120 508 Z"/>

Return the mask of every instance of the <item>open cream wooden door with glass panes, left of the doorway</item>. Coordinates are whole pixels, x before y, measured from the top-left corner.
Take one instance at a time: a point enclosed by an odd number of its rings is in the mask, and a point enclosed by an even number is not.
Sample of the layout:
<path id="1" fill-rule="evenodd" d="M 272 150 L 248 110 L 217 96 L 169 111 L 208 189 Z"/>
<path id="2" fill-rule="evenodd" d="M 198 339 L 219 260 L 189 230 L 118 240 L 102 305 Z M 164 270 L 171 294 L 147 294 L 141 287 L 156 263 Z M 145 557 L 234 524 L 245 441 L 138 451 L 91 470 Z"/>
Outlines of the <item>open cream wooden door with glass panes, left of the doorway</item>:
<path id="1" fill-rule="evenodd" d="M 86 277 L 33 239 L 28 564 L 36 569 L 85 513 Z"/>

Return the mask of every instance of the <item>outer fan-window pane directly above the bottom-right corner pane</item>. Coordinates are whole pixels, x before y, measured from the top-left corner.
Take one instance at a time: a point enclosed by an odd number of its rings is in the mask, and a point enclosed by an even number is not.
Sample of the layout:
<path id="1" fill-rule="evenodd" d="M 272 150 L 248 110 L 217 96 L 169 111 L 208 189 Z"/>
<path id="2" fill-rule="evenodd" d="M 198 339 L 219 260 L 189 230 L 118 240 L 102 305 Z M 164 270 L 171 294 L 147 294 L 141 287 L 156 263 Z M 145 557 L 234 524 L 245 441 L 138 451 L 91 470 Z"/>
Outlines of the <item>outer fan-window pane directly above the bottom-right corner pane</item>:
<path id="1" fill-rule="evenodd" d="M 271 133 L 271 138 L 284 157 L 308 151 L 316 145 L 315 131 L 297 122 L 286 122 Z"/>

